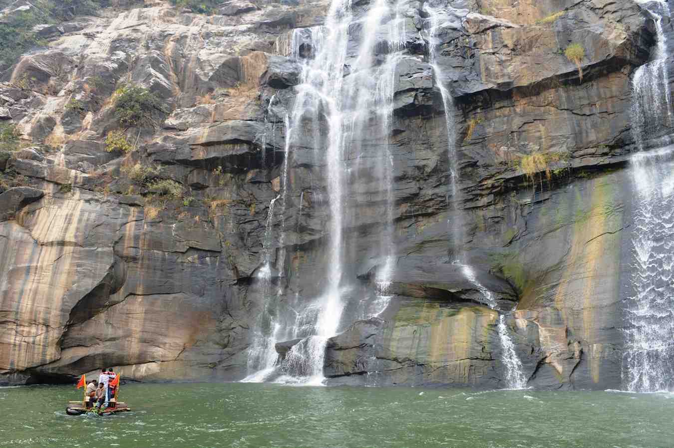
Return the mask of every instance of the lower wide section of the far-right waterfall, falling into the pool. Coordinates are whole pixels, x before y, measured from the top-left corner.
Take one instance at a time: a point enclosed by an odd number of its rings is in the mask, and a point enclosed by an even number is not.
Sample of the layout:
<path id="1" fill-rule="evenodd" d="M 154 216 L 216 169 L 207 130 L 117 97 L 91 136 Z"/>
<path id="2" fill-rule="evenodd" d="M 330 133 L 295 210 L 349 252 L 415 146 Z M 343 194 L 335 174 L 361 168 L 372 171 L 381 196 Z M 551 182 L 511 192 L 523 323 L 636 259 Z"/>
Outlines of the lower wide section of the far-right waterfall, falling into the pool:
<path id="1" fill-rule="evenodd" d="M 674 148 L 632 157 L 634 295 L 627 300 L 623 387 L 674 388 Z"/>

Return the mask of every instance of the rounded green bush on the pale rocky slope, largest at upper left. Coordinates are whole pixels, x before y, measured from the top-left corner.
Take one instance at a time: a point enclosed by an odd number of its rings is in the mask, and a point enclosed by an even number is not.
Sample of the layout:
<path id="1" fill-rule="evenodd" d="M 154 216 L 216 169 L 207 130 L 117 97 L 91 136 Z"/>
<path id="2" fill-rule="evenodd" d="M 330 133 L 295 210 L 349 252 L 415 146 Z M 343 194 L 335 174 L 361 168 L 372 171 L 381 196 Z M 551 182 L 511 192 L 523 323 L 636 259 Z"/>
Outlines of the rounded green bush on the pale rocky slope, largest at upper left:
<path id="1" fill-rule="evenodd" d="M 122 126 L 133 127 L 152 123 L 152 112 L 162 111 L 158 98 L 140 86 L 121 86 L 113 97 L 115 117 Z"/>

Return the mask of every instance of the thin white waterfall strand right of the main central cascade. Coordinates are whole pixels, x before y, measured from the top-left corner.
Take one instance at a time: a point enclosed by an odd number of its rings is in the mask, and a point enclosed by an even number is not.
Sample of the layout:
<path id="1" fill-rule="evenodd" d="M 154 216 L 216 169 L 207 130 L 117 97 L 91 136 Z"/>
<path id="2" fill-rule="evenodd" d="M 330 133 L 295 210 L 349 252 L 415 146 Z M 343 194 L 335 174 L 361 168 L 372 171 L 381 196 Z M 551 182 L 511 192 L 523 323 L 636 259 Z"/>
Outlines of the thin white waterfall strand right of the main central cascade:
<path id="1" fill-rule="evenodd" d="M 449 163 L 449 191 L 448 191 L 448 203 L 450 207 L 454 209 L 454 222 L 448 223 L 450 227 L 450 232 L 452 233 L 452 243 L 456 247 L 456 257 L 452 263 L 457 265 L 462 265 L 462 271 L 464 276 L 470 281 L 474 286 L 481 292 L 485 297 L 487 305 L 493 310 L 497 310 L 497 302 L 491 291 L 489 291 L 485 286 L 483 286 L 474 274 L 474 271 L 470 265 L 465 264 L 464 260 L 465 254 L 460 249 L 460 246 L 463 244 L 462 238 L 462 228 L 463 222 L 461 220 L 461 213 L 458 210 L 459 203 L 459 192 L 458 192 L 458 183 L 460 181 L 459 171 L 458 171 L 458 160 L 456 158 L 456 148 L 454 146 L 455 141 L 455 129 L 454 129 L 454 116 L 452 115 L 452 109 L 454 108 L 454 100 L 450 94 L 448 88 L 446 88 L 443 77 L 442 70 L 439 64 L 437 63 L 437 44 L 433 42 L 437 38 L 437 33 L 443 26 L 443 19 L 448 20 L 448 18 L 443 18 L 439 11 L 436 11 L 429 5 L 424 5 L 424 11 L 429 16 L 429 63 L 433 69 L 433 76 L 435 77 L 438 90 L 440 91 L 440 96 L 442 98 L 442 106 L 445 113 L 445 123 L 447 128 L 447 154 L 448 154 L 448 163 Z M 508 385 L 509 389 L 524 389 L 526 387 L 526 378 L 524 373 L 522 373 L 522 362 L 515 352 L 515 346 L 508 334 L 508 327 L 505 325 L 505 318 L 501 313 L 499 313 L 499 323 L 497 325 L 497 333 L 499 336 L 499 342 L 501 343 L 501 362 L 505 366 L 505 382 Z"/>

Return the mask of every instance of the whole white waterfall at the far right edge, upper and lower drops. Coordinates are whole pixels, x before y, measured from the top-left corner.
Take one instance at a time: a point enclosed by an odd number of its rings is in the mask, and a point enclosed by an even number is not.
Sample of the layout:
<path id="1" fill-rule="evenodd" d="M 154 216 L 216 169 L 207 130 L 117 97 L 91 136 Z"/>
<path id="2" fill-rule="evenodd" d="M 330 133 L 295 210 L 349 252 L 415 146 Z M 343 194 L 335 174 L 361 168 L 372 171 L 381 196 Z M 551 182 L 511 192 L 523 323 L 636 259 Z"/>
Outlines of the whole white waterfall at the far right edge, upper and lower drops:
<path id="1" fill-rule="evenodd" d="M 638 150 L 644 139 L 663 134 L 672 125 L 663 18 L 666 1 L 639 1 L 655 22 L 652 60 L 632 79 L 632 135 Z M 674 148 L 632 156 L 636 195 L 632 216 L 632 296 L 625 307 L 625 352 L 622 383 L 629 391 L 667 391 L 674 388 Z"/>

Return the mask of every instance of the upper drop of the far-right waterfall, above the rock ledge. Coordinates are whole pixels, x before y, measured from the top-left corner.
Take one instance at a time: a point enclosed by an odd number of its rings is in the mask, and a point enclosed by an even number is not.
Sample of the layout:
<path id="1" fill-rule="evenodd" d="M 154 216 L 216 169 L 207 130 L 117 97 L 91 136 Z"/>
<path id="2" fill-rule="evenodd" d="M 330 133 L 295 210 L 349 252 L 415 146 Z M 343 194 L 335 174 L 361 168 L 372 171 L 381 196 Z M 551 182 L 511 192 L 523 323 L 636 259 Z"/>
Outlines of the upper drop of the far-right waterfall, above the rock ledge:
<path id="1" fill-rule="evenodd" d="M 652 61 L 636 69 L 632 78 L 632 136 L 638 150 L 644 149 L 644 137 L 657 136 L 663 128 L 672 125 L 667 42 L 663 31 L 663 17 L 669 17 L 669 5 L 666 1 L 648 3 L 658 7 L 658 11 L 648 9 L 655 22 L 656 46 Z"/>

